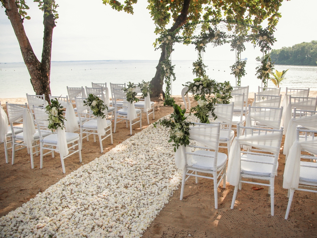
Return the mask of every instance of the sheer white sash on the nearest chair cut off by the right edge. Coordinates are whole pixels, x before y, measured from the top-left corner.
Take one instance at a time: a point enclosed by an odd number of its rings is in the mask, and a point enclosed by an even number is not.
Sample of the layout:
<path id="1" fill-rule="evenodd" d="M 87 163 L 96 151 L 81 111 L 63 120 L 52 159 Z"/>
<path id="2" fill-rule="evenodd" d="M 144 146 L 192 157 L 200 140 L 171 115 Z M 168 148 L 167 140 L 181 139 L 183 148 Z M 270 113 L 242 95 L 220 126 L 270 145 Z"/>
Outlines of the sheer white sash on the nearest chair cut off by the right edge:
<path id="1" fill-rule="evenodd" d="M 298 188 L 301 169 L 301 150 L 317 155 L 317 140 L 303 142 L 295 140 L 289 150 L 288 159 L 285 163 L 283 188 Z"/>

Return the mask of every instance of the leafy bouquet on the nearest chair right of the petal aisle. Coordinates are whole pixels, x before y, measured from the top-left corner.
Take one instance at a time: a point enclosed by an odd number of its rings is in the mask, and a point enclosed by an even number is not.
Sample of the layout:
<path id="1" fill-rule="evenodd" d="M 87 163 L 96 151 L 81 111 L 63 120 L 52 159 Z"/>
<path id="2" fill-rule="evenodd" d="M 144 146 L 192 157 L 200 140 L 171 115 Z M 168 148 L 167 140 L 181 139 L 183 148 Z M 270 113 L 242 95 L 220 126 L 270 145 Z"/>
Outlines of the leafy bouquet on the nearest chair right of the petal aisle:
<path id="1" fill-rule="evenodd" d="M 153 126 L 156 128 L 156 125 L 159 124 L 166 128 L 170 129 L 170 140 L 168 142 L 174 142 L 174 152 L 181 145 L 189 145 L 189 126 L 193 125 L 192 122 L 186 122 L 184 116 L 185 109 L 181 109 L 180 106 L 173 103 L 174 112 L 171 114 L 170 119 L 164 118 L 163 120 L 159 119 L 158 122 L 154 122 Z"/>

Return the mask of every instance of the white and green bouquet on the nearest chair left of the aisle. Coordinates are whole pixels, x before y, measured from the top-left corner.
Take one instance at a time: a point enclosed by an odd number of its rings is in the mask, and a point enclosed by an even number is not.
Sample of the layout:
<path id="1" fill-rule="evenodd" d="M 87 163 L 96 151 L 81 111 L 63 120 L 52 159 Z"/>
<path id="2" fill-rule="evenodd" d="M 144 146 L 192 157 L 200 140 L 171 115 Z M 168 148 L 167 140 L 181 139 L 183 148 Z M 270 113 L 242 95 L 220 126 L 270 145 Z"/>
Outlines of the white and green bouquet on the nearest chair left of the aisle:
<path id="1" fill-rule="evenodd" d="M 66 118 L 63 114 L 63 107 L 58 102 L 57 98 L 51 99 L 51 105 L 47 105 L 45 108 L 45 112 L 49 114 L 49 125 L 48 128 L 52 130 L 57 130 L 58 127 L 64 128 L 64 123 Z"/>

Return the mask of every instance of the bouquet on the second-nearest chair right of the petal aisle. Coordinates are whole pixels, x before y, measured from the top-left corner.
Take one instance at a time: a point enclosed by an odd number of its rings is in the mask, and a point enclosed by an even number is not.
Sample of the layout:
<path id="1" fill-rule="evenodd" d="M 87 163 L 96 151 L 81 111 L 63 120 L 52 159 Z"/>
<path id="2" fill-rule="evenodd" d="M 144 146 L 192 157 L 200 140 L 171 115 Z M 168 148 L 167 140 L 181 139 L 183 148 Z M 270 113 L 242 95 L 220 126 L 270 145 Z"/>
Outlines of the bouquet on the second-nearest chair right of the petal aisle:
<path id="1" fill-rule="evenodd" d="M 191 108 L 189 115 L 191 115 L 192 112 L 196 111 L 194 113 L 194 116 L 199 118 L 201 123 L 207 123 L 207 124 L 210 123 L 210 121 L 208 119 L 210 114 L 215 119 L 217 118 L 217 116 L 214 113 L 214 110 L 215 110 L 214 104 L 215 104 L 215 101 L 216 101 L 215 98 L 206 99 L 204 96 L 196 95 L 195 99 L 198 102 L 198 105 Z"/>

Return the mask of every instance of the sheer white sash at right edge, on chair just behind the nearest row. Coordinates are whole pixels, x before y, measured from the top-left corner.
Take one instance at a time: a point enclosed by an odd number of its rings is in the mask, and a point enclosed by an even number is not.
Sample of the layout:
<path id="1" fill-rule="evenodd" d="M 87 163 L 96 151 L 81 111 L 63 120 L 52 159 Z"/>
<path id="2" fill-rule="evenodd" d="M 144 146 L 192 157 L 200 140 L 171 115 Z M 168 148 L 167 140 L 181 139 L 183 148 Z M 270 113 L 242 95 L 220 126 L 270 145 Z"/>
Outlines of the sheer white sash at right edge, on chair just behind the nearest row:
<path id="1" fill-rule="evenodd" d="M 293 118 L 288 123 L 288 129 L 285 136 L 283 154 L 286 155 L 285 159 L 287 160 L 289 149 L 293 145 L 296 138 L 296 127 L 301 125 L 310 130 L 317 130 L 317 114 L 311 116 L 303 116 L 301 118 Z"/>

